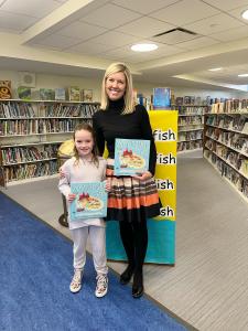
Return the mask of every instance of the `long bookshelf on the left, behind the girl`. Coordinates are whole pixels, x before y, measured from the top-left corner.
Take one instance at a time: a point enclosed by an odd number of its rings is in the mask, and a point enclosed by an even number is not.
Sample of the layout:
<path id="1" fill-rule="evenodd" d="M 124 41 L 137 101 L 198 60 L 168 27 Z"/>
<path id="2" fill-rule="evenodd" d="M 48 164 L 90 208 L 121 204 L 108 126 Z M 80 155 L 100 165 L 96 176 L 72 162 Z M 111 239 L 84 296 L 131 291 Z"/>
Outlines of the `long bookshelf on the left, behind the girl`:
<path id="1" fill-rule="evenodd" d="M 98 109 L 98 103 L 0 100 L 0 184 L 56 175 L 60 145 Z"/>

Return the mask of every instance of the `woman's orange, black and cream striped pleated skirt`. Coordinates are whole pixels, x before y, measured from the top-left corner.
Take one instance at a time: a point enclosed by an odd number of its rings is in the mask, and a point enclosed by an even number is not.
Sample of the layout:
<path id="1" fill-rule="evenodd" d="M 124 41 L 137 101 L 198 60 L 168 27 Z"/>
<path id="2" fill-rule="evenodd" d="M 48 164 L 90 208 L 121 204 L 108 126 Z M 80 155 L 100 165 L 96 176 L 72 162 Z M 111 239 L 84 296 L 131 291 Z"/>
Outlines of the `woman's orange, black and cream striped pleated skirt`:
<path id="1" fill-rule="evenodd" d="M 142 222 L 160 214 L 161 202 L 153 178 L 139 181 L 114 175 L 114 160 L 107 160 L 107 179 L 111 182 L 106 220 Z"/>

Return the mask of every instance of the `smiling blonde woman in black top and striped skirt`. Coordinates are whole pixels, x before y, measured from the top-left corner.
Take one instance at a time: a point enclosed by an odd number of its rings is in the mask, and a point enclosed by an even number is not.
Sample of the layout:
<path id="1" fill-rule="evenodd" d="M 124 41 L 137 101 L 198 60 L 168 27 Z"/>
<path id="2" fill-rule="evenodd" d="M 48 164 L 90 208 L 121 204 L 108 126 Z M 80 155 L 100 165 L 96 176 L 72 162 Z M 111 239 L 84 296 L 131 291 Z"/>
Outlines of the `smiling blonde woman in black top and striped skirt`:
<path id="1" fill-rule="evenodd" d="M 147 218 L 160 214 L 160 201 L 153 179 L 157 151 L 145 108 L 136 105 L 132 77 L 123 63 L 111 64 L 104 76 L 101 109 L 94 115 L 93 127 L 97 147 L 104 153 L 107 142 L 107 178 L 111 182 L 107 220 L 119 221 L 120 236 L 128 257 L 128 267 L 120 282 L 128 284 L 133 275 L 132 297 L 143 293 L 142 267 L 148 247 Z M 115 139 L 151 141 L 149 171 L 136 177 L 115 177 Z"/>

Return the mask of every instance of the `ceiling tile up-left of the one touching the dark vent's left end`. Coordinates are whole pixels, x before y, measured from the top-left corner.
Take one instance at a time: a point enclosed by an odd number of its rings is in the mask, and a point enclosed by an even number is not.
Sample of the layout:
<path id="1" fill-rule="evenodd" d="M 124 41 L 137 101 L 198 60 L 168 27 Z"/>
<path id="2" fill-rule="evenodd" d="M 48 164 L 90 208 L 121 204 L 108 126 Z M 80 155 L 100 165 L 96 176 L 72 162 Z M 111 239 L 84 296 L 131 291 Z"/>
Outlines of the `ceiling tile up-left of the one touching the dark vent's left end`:
<path id="1" fill-rule="evenodd" d="M 83 17 L 80 21 L 114 29 L 139 18 L 140 14 L 131 10 L 108 3 Z"/>

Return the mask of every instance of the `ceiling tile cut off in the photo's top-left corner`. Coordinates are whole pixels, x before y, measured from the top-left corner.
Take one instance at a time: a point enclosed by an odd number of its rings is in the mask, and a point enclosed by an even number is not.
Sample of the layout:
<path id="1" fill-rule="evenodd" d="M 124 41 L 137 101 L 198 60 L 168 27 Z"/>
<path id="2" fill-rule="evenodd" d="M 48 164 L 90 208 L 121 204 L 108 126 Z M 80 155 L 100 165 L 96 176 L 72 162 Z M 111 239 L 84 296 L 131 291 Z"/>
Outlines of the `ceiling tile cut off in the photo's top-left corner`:
<path id="1" fill-rule="evenodd" d="M 56 8 L 61 7 L 62 4 L 63 3 L 53 0 L 8 0 L 2 4 L 1 10 L 41 19 L 51 13 Z"/>

